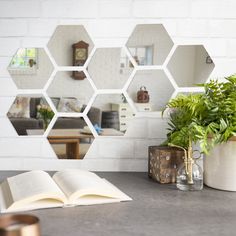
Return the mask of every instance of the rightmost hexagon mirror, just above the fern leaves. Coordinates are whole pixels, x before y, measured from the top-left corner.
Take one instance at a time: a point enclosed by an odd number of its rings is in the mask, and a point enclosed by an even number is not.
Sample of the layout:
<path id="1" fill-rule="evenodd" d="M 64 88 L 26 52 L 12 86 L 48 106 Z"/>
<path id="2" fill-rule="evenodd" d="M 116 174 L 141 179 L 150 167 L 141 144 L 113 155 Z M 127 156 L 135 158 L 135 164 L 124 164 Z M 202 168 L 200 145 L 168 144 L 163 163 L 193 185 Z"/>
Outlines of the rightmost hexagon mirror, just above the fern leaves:
<path id="1" fill-rule="evenodd" d="M 215 64 L 203 45 L 181 45 L 175 50 L 167 68 L 179 87 L 205 83 Z"/>

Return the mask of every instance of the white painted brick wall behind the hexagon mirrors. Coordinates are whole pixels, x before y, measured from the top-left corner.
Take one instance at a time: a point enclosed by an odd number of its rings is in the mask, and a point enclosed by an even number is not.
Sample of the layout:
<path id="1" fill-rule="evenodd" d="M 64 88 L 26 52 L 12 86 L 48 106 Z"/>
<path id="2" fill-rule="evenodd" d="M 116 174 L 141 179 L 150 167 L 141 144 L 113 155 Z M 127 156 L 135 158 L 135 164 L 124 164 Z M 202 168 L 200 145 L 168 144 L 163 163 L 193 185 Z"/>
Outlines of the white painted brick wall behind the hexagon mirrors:
<path id="1" fill-rule="evenodd" d="M 147 147 L 165 136 L 160 118 L 138 118 L 125 138 L 95 140 L 83 161 L 58 161 L 46 139 L 19 138 L 5 113 L 16 95 L 6 66 L 19 47 L 45 46 L 57 24 L 84 24 L 97 46 L 122 46 L 136 24 L 164 23 L 175 43 L 204 44 L 212 77 L 235 73 L 235 0 L 0 0 L 0 169 L 147 169 Z"/>

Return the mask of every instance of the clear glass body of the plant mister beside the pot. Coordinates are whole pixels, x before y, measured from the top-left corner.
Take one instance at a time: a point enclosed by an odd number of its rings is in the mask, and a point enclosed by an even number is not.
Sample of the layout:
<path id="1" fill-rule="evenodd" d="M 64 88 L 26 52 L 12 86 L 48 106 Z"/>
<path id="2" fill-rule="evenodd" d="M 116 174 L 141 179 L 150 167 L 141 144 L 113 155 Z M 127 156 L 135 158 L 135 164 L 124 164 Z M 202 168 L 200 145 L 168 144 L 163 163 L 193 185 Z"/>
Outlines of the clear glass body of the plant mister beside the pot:
<path id="1" fill-rule="evenodd" d="M 192 176 L 187 175 L 186 165 L 191 165 Z M 177 171 L 176 187 L 183 191 L 196 191 L 203 189 L 202 168 L 192 159 L 190 163 L 183 163 Z"/>

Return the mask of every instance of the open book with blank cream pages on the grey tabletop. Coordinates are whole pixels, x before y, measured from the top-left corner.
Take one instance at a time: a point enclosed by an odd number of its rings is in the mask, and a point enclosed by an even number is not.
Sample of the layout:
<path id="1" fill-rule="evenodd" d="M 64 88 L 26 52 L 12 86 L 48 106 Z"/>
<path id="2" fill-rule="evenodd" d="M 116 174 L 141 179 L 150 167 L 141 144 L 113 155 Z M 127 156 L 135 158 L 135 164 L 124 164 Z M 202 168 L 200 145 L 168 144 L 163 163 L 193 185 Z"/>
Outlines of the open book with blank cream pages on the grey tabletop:
<path id="1" fill-rule="evenodd" d="M 1 213 L 132 200 L 96 174 L 83 170 L 25 172 L 0 185 Z"/>

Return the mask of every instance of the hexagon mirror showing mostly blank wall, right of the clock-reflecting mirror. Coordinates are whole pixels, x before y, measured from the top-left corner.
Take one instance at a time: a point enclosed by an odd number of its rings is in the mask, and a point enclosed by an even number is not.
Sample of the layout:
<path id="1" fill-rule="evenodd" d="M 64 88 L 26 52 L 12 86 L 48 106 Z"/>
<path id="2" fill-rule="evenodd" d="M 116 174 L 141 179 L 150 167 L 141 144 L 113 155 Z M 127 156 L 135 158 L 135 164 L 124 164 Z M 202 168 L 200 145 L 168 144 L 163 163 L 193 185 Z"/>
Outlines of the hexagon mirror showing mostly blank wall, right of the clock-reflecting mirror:
<path id="1" fill-rule="evenodd" d="M 133 69 L 122 48 L 99 48 L 88 65 L 88 72 L 98 89 L 121 89 Z"/>

